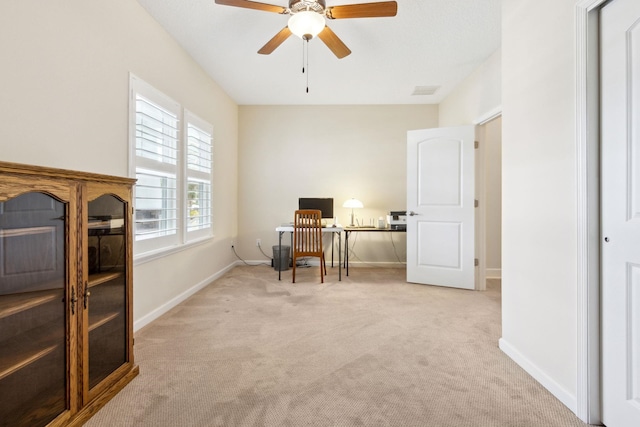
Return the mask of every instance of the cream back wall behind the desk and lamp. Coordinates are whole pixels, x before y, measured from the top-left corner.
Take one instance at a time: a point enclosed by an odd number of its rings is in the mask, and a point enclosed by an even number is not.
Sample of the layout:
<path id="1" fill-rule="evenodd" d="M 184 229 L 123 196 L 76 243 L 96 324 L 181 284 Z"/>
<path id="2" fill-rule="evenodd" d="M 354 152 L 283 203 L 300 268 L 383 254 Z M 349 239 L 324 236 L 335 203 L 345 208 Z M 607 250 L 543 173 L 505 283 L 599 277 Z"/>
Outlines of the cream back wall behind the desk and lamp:
<path id="1" fill-rule="evenodd" d="M 435 105 L 241 106 L 239 123 L 238 251 L 267 261 L 255 239 L 270 255 L 274 229 L 293 220 L 298 197 L 333 197 L 343 225 L 351 197 L 363 202 L 355 213 L 367 224 L 406 209 L 407 131 L 436 127 L 438 113 Z M 406 261 L 404 234 L 360 233 L 357 242 L 354 263 Z"/>

